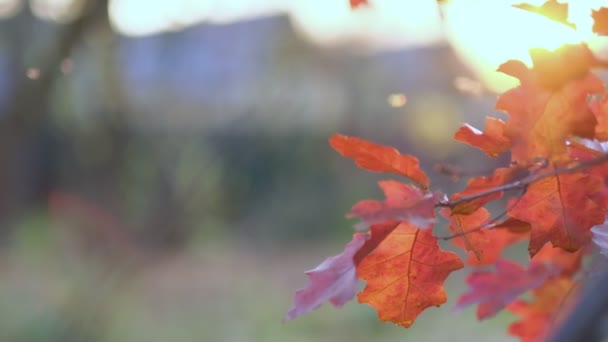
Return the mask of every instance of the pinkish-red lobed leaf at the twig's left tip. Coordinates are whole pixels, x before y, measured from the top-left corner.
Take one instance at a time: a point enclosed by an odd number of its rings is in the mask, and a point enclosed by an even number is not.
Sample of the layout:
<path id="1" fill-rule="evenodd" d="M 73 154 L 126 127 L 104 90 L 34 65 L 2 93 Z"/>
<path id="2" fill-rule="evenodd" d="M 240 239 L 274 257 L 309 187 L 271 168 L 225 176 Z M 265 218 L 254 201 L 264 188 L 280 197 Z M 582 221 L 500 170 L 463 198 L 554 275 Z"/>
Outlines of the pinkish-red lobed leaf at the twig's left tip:
<path id="1" fill-rule="evenodd" d="M 426 229 L 435 222 L 433 194 L 394 180 L 379 181 L 386 200 L 363 200 L 353 206 L 347 218 L 359 218 L 357 229 L 364 229 L 386 221 L 408 221 L 418 228 Z"/>

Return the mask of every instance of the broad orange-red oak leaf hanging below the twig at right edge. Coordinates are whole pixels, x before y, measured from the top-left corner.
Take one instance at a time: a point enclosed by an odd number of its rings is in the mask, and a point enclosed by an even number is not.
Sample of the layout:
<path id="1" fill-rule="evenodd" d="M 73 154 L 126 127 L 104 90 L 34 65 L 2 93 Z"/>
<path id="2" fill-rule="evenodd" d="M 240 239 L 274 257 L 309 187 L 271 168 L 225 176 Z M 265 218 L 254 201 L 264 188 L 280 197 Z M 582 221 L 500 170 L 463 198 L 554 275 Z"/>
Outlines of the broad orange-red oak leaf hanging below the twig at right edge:
<path id="1" fill-rule="evenodd" d="M 530 184 L 509 211 L 511 217 L 532 226 L 530 256 L 549 241 L 571 252 L 586 245 L 591 238 L 591 227 L 604 221 L 606 210 L 590 196 L 602 185 L 598 177 L 581 172 Z"/>

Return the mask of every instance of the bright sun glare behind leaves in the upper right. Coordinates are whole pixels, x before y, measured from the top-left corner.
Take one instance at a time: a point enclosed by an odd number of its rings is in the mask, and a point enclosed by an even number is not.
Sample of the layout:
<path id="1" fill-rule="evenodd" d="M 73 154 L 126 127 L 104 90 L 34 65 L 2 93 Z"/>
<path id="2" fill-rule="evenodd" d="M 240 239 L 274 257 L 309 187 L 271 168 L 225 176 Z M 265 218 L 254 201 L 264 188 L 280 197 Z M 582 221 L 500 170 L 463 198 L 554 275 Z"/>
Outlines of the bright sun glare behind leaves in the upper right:
<path id="1" fill-rule="evenodd" d="M 530 65 L 529 49 L 554 50 L 563 44 L 588 40 L 590 9 L 597 1 L 577 0 L 570 4 L 568 20 L 576 29 L 541 15 L 512 7 L 521 1 L 452 0 L 444 8 L 446 34 L 456 52 L 493 91 L 502 92 L 517 84 L 498 73 L 509 59 Z M 542 4 L 543 1 L 527 1 Z"/>

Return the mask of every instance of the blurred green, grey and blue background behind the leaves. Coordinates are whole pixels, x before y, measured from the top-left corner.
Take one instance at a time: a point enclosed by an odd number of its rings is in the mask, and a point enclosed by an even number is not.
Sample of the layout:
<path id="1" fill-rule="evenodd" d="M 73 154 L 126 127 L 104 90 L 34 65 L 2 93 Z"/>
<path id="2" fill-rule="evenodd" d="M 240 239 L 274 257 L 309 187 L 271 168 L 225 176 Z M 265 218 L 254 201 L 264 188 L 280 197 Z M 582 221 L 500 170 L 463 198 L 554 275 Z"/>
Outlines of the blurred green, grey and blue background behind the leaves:
<path id="1" fill-rule="evenodd" d="M 457 191 L 436 164 L 506 162 L 452 140 L 504 117 L 496 67 L 585 34 L 506 1 L 370 2 L 0 0 L 0 341 L 510 340 L 508 314 L 450 312 L 464 272 L 407 330 L 355 303 L 282 323 L 388 177 L 333 132 Z"/>

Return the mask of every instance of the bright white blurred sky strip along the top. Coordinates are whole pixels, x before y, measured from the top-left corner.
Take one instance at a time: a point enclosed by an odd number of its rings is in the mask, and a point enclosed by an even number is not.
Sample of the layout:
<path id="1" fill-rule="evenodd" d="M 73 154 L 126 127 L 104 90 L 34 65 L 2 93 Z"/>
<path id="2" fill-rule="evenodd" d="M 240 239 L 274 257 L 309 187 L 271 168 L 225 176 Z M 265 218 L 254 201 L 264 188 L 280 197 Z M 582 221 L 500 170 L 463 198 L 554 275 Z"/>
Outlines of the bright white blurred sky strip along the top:
<path id="1" fill-rule="evenodd" d="M 530 0 L 539 5 L 543 0 Z M 0 0 L 0 15 L 10 15 L 22 0 Z M 517 0 L 375 0 L 351 10 L 346 0 L 111 0 L 110 18 L 121 33 L 152 35 L 206 23 L 226 24 L 287 14 L 297 32 L 322 46 L 356 45 L 358 53 L 449 43 L 491 90 L 504 91 L 515 81 L 495 72 L 508 59 L 530 63 L 528 49 L 555 49 L 564 43 L 594 40 L 590 9 L 601 0 L 570 4 L 573 30 L 511 7 Z M 78 0 L 32 0 L 42 18 L 65 21 Z M 496 15 L 500 13 L 500 15 Z M 443 19 L 442 20 L 442 16 Z M 595 39 L 593 46 L 599 46 Z M 606 44 L 600 41 L 603 48 Z"/>

